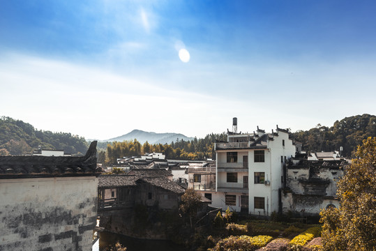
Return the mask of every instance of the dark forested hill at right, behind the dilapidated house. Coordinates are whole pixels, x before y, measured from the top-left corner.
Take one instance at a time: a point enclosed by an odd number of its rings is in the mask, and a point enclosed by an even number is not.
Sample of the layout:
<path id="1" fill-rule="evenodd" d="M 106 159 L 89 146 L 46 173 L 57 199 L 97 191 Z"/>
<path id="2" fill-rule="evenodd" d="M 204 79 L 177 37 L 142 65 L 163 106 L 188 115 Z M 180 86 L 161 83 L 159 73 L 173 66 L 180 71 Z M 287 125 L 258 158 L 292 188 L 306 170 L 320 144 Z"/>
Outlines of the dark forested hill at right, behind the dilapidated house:
<path id="1" fill-rule="evenodd" d="M 343 146 L 343 155 L 347 158 L 368 137 L 376 137 L 375 115 L 349 116 L 334 122 L 330 128 L 318 124 L 310 130 L 294 132 L 294 138 L 303 143 L 303 150 L 338 151 Z"/>

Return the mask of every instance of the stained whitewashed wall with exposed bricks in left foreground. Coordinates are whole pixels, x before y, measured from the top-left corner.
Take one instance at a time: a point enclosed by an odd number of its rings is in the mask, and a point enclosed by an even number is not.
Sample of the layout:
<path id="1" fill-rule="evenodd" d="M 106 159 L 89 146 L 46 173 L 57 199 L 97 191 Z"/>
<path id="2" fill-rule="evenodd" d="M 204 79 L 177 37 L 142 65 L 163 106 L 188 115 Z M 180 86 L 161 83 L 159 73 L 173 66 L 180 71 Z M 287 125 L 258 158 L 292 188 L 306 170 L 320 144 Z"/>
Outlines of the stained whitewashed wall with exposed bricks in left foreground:
<path id="1" fill-rule="evenodd" d="M 0 250 L 91 250 L 95 176 L 0 179 Z"/>

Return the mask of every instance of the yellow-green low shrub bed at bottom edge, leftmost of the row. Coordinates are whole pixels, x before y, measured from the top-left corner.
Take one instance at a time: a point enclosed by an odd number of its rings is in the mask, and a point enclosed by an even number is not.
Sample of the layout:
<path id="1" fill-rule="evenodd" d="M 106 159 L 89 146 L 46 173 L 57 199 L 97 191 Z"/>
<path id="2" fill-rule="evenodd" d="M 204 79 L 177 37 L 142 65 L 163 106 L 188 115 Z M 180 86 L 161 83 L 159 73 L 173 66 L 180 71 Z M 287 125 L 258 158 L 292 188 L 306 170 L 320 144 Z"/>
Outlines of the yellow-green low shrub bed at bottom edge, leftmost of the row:
<path id="1" fill-rule="evenodd" d="M 218 241 L 214 248 L 210 251 L 223 250 L 249 250 L 254 251 L 264 247 L 273 238 L 271 236 L 230 236 L 221 241 Z"/>

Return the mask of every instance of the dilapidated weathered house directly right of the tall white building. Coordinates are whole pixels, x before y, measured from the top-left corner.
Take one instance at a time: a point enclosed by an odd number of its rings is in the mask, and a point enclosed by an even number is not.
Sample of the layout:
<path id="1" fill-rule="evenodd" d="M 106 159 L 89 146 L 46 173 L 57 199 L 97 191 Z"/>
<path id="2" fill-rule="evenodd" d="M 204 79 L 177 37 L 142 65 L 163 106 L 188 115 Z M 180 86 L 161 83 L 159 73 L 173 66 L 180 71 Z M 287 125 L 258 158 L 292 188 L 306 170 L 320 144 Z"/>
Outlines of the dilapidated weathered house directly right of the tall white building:
<path id="1" fill-rule="evenodd" d="M 281 192 L 283 213 L 318 215 L 322 208 L 338 208 L 336 183 L 343 176 L 346 163 L 292 158 L 286 166 L 286 183 Z"/>

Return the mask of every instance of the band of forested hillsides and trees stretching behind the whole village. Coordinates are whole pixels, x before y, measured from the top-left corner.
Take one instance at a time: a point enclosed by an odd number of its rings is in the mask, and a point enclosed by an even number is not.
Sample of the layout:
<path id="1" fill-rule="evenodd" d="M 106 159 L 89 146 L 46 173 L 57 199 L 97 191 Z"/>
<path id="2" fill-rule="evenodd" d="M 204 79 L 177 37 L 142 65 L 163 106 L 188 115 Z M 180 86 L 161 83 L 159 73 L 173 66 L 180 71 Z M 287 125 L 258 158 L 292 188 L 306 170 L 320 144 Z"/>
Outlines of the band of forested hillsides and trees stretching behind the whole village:
<path id="1" fill-rule="evenodd" d="M 376 116 L 370 114 L 349 116 L 333 123 L 333 126 L 317 124 L 310 130 L 292 133 L 294 139 L 303 144 L 305 151 L 338 151 L 343 146 L 343 155 L 352 157 L 356 146 L 363 139 L 375 137 Z M 170 159 L 215 159 L 213 143 L 226 141 L 227 135 L 211 133 L 203 139 L 184 141 L 176 139 L 171 144 L 140 144 L 137 139 L 123 142 L 98 142 L 98 162 L 105 165 L 116 163 L 116 158 L 160 152 Z M 63 149 L 66 153 L 82 155 L 89 144 L 84 137 L 66 132 L 36 130 L 29 123 L 9 117 L 0 117 L 0 155 L 22 155 L 31 153 L 38 146 L 43 149 Z"/>

